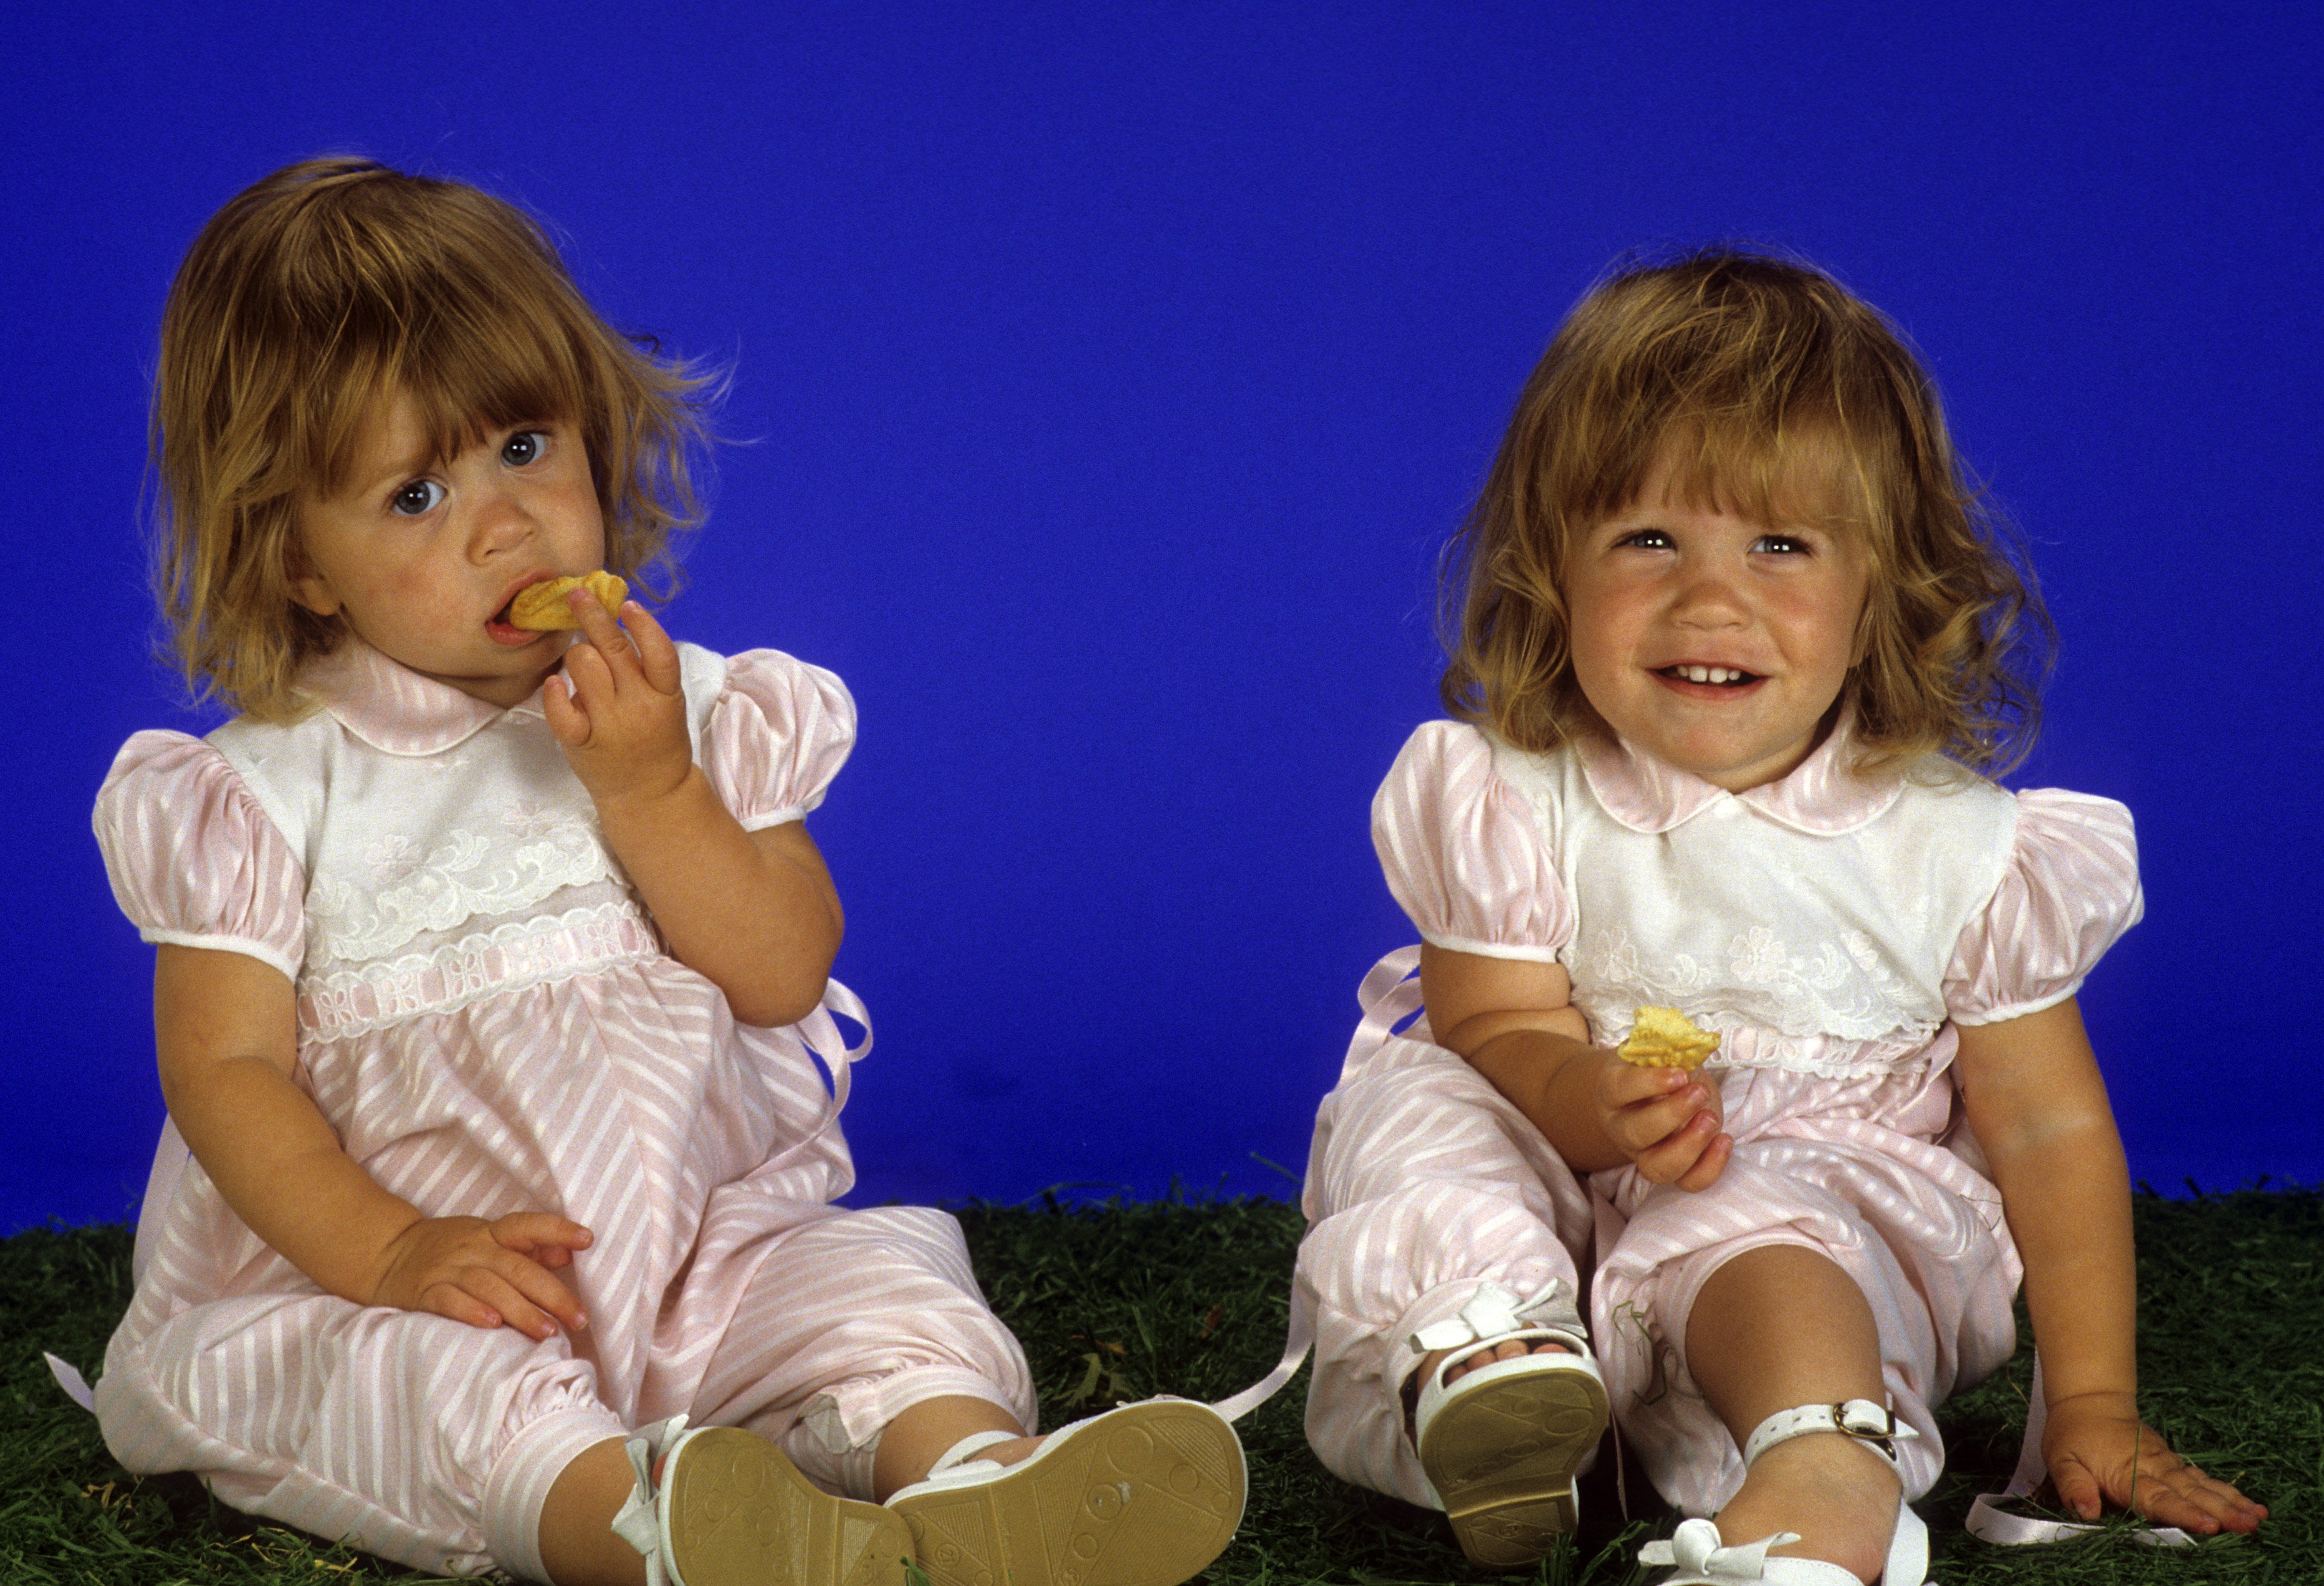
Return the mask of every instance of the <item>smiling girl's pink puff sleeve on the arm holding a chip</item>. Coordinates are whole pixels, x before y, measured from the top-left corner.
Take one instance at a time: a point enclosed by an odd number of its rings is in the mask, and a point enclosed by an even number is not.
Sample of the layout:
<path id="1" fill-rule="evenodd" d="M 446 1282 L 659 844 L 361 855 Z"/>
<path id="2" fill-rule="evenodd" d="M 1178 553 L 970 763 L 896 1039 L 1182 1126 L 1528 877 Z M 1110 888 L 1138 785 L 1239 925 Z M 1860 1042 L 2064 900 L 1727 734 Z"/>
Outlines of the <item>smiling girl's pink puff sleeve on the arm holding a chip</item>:
<path id="1" fill-rule="evenodd" d="M 1550 963 L 1573 940 L 1573 905 L 1492 742 L 1429 721 L 1404 742 L 1371 800 L 1387 891 L 1432 946 Z"/>

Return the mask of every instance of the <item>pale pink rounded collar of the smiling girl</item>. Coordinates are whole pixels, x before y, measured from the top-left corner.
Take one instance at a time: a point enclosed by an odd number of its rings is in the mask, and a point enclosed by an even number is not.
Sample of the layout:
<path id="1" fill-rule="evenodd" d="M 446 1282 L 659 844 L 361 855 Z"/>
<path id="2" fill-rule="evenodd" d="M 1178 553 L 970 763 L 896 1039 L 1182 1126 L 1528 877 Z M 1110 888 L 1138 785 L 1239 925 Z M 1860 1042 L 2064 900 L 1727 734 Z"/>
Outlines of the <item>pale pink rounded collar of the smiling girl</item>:
<path id="1" fill-rule="evenodd" d="M 1896 772 L 1857 777 L 1848 770 L 1855 758 L 1855 707 L 1841 709 L 1831 735 L 1787 777 L 1743 793 L 1666 765 L 1620 737 L 1578 737 L 1573 753 L 1597 802 L 1636 833 L 1666 833 L 1731 798 L 1792 830 L 1836 837 L 1868 826 L 1903 793 L 1903 777 Z"/>

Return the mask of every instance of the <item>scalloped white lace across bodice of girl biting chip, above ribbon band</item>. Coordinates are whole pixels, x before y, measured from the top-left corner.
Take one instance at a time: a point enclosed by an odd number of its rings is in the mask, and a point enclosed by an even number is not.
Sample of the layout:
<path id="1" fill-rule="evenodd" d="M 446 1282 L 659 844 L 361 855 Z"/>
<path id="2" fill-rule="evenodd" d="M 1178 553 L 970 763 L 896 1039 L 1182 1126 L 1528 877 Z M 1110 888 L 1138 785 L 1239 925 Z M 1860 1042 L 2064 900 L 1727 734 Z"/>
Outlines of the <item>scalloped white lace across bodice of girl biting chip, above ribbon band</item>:
<path id="1" fill-rule="evenodd" d="M 497 833 L 451 828 L 425 853 L 400 833 L 376 837 L 360 867 L 372 888 L 337 874 L 307 888 L 309 963 L 383 958 L 416 935 L 523 914 L 567 886 L 621 879 L 590 821 L 530 802 L 507 805 Z"/>

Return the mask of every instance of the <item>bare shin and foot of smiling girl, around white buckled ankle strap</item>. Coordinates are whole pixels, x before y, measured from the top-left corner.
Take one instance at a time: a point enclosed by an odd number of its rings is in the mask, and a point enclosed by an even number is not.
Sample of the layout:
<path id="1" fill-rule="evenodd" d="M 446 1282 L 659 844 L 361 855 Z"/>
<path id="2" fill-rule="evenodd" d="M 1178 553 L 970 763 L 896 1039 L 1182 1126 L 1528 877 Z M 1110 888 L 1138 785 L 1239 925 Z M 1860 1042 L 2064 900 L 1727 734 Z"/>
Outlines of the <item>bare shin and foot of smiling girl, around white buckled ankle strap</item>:
<path id="1" fill-rule="evenodd" d="M 1799 1405 L 1882 1402 L 1880 1330 L 1864 1291 L 1827 1256 L 1762 1244 L 1713 1272 L 1687 1316 L 1687 1370 L 1741 1446 L 1771 1414 Z M 1822 1558 L 1859 1579 L 1880 1574 L 1901 1484 L 1871 1446 L 1843 1433 L 1794 1437 L 1762 1453 L 1727 1507 L 1720 1537 Z"/>

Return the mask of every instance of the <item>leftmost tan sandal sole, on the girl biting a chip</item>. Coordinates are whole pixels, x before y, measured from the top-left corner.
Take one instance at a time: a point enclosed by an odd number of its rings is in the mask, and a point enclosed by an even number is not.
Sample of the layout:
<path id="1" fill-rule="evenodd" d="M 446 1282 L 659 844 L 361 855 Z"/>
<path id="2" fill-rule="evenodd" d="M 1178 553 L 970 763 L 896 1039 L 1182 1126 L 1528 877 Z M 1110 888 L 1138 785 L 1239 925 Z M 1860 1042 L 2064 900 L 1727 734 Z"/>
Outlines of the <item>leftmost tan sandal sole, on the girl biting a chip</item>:
<path id="1" fill-rule="evenodd" d="M 911 1528 L 878 1505 L 832 1498 L 755 1433 L 690 1435 L 667 1502 L 683 1586 L 904 1586 Z"/>

